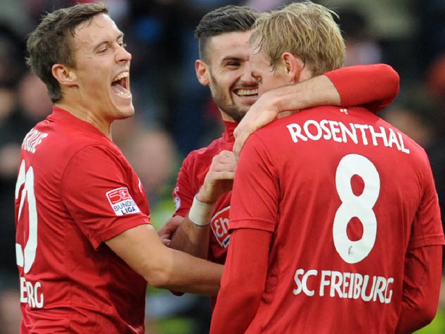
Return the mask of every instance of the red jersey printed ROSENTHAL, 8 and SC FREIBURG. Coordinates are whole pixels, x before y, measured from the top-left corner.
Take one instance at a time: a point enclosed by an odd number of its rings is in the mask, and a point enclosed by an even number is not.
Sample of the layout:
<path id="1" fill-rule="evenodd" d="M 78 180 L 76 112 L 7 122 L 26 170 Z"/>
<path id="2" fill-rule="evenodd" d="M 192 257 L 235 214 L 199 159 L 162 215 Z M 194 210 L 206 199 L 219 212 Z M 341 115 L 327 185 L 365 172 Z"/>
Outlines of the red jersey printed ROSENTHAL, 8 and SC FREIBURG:
<path id="1" fill-rule="evenodd" d="M 445 244 L 426 152 L 357 107 L 307 109 L 250 136 L 230 214 L 230 232 L 246 228 L 271 235 L 264 290 L 247 331 L 230 333 L 394 333 L 407 250 Z M 211 333 L 242 328 L 220 312 L 255 285 L 233 291 L 243 258 L 229 249 Z"/>

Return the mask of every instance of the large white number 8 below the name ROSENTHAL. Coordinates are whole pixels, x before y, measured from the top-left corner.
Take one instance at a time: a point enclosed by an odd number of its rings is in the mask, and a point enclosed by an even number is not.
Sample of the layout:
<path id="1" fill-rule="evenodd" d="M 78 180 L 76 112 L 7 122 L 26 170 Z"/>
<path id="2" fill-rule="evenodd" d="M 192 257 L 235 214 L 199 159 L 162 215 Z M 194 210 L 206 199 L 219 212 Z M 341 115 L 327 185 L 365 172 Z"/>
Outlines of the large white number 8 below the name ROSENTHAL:
<path id="1" fill-rule="evenodd" d="M 355 196 L 350 183 L 353 175 L 359 175 L 364 181 L 364 189 L 359 196 Z M 369 255 L 375 244 L 377 219 L 373 206 L 380 193 L 380 176 L 369 159 L 358 154 L 348 154 L 339 162 L 335 184 L 341 205 L 334 217 L 334 246 L 343 260 L 357 263 Z M 346 232 L 353 217 L 359 218 L 363 225 L 362 238 L 357 241 L 350 240 Z"/>

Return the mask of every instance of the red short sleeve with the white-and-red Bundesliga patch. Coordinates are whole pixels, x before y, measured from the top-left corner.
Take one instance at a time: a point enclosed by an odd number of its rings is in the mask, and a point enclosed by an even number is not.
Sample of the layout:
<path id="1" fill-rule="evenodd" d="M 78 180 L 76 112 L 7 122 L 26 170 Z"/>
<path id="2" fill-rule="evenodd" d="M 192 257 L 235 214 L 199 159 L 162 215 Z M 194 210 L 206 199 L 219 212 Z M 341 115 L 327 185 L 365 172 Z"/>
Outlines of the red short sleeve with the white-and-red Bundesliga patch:
<path id="1" fill-rule="evenodd" d="M 93 247 L 149 223 L 140 210 L 147 198 L 130 177 L 122 159 L 100 145 L 79 150 L 65 168 L 60 196 Z"/>

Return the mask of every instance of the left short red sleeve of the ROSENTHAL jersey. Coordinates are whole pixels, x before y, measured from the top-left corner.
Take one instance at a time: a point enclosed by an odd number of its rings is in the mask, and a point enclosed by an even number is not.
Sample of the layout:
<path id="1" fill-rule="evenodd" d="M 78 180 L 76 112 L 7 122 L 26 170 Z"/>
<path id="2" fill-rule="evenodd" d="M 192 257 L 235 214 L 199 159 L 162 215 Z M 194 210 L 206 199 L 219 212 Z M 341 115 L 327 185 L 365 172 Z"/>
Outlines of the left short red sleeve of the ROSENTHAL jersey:
<path id="1" fill-rule="evenodd" d="M 273 157 L 256 134 L 241 151 L 230 201 L 229 230 L 255 228 L 273 232 L 280 190 Z"/>

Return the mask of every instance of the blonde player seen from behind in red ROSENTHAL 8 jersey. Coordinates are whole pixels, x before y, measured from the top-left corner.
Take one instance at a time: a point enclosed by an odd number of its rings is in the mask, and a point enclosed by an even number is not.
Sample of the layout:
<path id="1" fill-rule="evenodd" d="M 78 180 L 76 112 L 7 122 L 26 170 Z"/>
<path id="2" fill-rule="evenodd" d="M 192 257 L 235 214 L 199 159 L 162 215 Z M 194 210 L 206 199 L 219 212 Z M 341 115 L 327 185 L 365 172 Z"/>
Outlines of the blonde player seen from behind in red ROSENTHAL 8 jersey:
<path id="1" fill-rule="evenodd" d="M 332 15 L 307 1 L 257 20 L 259 95 L 341 67 Z M 211 334 L 412 333 L 435 317 L 445 239 L 428 157 L 362 107 L 316 106 L 254 132 L 229 233 Z"/>

